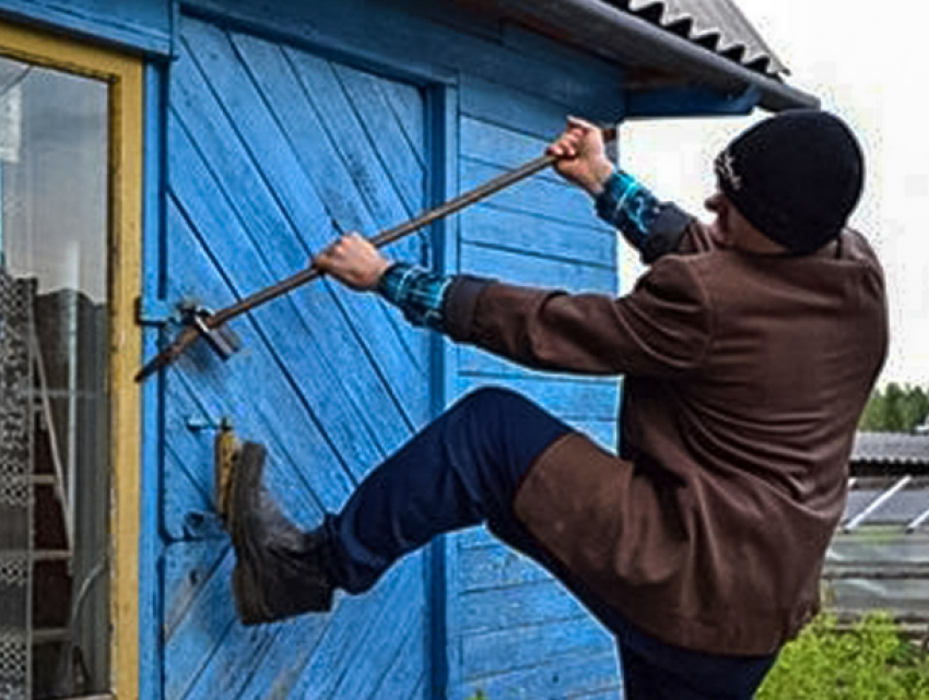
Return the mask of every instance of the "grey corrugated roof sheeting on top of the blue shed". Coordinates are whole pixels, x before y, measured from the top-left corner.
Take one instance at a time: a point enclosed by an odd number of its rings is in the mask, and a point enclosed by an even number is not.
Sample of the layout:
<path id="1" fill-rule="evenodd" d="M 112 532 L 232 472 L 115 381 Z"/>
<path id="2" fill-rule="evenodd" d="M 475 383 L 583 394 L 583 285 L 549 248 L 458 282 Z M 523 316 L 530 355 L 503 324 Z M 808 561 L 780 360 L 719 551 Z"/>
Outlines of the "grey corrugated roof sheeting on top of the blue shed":
<path id="1" fill-rule="evenodd" d="M 787 67 L 733 0 L 605 0 L 742 66 L 780 78 Z"/>

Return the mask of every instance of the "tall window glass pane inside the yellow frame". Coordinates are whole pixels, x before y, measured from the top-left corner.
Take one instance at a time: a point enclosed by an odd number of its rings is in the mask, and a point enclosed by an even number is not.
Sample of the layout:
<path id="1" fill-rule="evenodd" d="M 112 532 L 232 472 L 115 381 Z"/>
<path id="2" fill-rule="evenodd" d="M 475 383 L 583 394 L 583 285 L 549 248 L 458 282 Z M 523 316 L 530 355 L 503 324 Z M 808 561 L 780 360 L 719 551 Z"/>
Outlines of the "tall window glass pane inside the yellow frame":
<path id="1" fill-rule="evenodd" d="M 0 58 L 0 697 L 109 686 L 108 88 Z"/>

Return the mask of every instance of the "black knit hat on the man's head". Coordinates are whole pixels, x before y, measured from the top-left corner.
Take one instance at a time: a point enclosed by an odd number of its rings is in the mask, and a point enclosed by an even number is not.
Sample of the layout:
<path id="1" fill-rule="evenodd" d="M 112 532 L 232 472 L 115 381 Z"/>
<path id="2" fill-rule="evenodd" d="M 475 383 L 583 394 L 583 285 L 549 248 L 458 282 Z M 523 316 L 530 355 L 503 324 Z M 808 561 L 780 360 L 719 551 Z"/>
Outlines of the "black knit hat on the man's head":
<path id="1" fill-rule="evenodd" d="M 842 233 L 865 183 L 855 134 L 838 117 L 814 109 L 755 124 L 717 156 L 715 167 L 719 189 L 739 213 L 800 254 Z"/>

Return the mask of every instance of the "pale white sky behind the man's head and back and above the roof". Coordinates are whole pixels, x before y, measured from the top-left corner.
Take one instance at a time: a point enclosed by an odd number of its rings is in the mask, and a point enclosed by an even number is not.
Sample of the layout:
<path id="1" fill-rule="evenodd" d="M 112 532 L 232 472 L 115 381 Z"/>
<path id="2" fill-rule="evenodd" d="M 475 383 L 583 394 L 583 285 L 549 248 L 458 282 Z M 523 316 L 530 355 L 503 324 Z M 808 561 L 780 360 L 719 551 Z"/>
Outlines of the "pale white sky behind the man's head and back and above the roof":
<path id="1" fill-rule="evenodd" d="M 880 383 L 929 387 L 929 83 L 920 51 L 929 7 L 919 0 L 896 0 L 893 10 L 848 0 L 737 3 L 790 69 L 788 83 L 819 96 L 858 133 L 868 179 L 851 225 L 874 246 L 887 280 L 891 348 Z M 698 212 L 714 190 L 713 157 L 764 116 L 626 122 L 621 163 L 660 198 Z"/>

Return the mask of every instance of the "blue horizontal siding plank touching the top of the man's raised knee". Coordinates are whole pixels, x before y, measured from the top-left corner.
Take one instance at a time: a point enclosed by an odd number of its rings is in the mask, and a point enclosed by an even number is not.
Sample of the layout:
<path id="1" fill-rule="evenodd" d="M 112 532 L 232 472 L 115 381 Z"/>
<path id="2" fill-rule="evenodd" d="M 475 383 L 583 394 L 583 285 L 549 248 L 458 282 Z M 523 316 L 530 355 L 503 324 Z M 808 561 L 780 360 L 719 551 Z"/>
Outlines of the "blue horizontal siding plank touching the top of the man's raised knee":
<path id="1" fill-rule="evenodd" d="M 458 384 L 462 392 L 485 385 L 506 387 L 568 420 L 610 420 L 615 418 L 618 411 L 616 390 L 610 383 L 516 378 L 487 381 L 480 376 L 462 376 Z"/>

